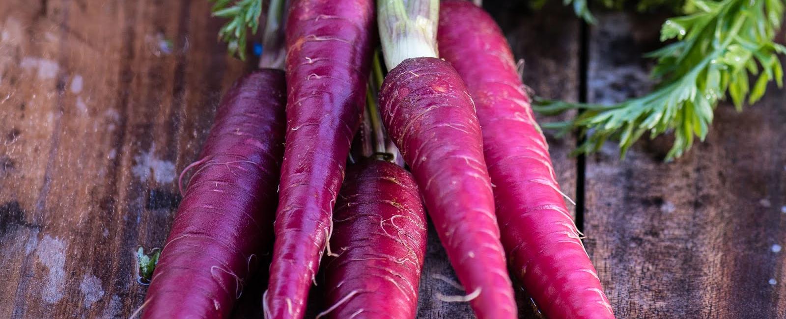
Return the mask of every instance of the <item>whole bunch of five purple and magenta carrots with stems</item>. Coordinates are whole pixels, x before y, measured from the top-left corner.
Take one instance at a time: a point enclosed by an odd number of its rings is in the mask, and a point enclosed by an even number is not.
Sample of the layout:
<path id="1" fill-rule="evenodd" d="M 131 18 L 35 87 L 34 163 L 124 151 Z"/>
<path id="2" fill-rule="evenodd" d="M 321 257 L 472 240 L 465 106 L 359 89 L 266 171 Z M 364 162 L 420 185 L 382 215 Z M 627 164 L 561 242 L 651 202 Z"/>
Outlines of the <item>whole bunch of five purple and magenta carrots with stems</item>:
<path id="1" fill-rule="evenodd" d="M 269 276 L 266 318 L 303 318 L 312 284 L 324 291 L 317 317 L 416 317 L 427 212 L 465 289 L 443 301 L 516 318 L 520 284 L 546 317 L 614 317 L 483 9 L 270 8 L 285 23 L 264 41 L 281 45 L 226 92 L 184 170 L 141 317 L 229 317 L 257 273 Z"/>

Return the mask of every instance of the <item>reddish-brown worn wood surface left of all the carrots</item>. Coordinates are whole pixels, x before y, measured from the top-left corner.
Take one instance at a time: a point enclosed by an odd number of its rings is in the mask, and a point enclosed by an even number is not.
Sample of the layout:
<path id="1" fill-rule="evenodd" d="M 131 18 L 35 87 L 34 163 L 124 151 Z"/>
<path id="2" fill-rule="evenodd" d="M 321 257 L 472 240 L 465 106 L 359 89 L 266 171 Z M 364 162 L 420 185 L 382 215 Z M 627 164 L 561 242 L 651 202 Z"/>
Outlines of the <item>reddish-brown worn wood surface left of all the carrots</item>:
<path id="1" fill-rule="evenodd" d="M 243 72 L 205 1 L 0 2 L 0 317 L 128 317 Z"/>

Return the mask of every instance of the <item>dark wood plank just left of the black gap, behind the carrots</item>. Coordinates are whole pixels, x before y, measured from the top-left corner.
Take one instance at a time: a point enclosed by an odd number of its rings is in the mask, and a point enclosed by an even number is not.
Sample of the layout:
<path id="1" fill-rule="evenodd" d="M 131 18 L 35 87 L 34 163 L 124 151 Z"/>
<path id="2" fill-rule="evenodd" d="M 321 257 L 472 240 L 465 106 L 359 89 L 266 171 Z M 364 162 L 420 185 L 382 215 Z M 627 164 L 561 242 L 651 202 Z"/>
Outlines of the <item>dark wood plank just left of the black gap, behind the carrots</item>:
<path id="1" fill-rule="evenodd" d="M 502 27 L 516 58 L 525 61 L 524 83 L 539 95 L 576 101 L 579 86 L 579 25 L 571 10 L 556 2 L 534 12 L 529 9 L 528 2 L 487 1 L 484 6 Z M 568 156 L 575 147 L 575 140 L 547 138 L 560 187 L 568 196 L 575 198 L 576 161 Z M 418 317 L 474 317 L 468 303 L 443 303 L 436 299 L 437 293 L 461 295 L 465 292 L 434 277 L 441 275 L 457 282 L 433 226 L 429 227 L 428 236 Z M 520 317 L 539 317 L 525 292 L 517 289 L 517 299 Z"/>

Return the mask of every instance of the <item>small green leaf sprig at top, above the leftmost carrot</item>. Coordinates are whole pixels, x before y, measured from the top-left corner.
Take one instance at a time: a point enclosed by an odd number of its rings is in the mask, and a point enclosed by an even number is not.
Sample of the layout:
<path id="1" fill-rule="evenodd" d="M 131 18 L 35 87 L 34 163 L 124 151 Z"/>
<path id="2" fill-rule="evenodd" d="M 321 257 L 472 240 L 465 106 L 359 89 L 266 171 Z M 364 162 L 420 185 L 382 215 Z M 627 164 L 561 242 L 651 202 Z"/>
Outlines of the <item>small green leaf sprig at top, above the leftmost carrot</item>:
<path id="1" fill-rule="evenodd" d="M 211 0 L 213 16 L 229 20 L 219 31 L 219 38 L 227 43 L 230 54 L 237 54 L 245 61 L 248 29 L 252 35 L 259 30 L 262 15 L 262 0 Z"/>

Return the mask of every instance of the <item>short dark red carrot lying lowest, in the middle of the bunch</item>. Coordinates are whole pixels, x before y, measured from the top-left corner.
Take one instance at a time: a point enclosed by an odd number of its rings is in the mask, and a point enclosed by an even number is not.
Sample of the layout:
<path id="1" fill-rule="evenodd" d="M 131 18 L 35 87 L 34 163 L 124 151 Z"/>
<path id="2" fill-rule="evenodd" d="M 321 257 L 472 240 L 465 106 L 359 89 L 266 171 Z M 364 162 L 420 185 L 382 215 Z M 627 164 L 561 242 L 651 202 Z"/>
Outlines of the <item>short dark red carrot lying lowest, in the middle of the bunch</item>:
<path id="1" fill-rule="evenodd" d="M 427 232 L 412 175 L 375 159 L 347 168 L 333 223 L 325 289 L 339 306 L 327 317 L 414 318 Z"/>

